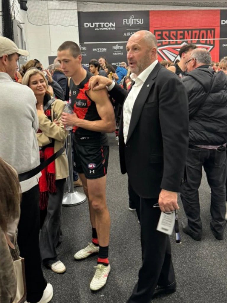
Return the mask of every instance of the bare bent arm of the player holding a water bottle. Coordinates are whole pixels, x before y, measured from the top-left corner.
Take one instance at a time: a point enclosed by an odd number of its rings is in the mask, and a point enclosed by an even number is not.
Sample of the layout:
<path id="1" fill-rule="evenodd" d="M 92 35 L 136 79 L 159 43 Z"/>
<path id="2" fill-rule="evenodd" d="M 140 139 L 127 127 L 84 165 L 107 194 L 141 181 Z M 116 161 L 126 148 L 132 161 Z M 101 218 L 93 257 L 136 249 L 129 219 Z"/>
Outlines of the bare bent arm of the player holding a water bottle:
<path id="1" fill-rule="evenodd" d="M 101 120 L 88 121 L 77 117 L 76 113 L 62 113 L 61 121 L 64 125 L 78 126 L 93 132 L 114 132 L 115 115 L 113 106 L 108 98 L 107 90 L 87 91 L 89 98 L 96 103 L 96 108 Z"/>

